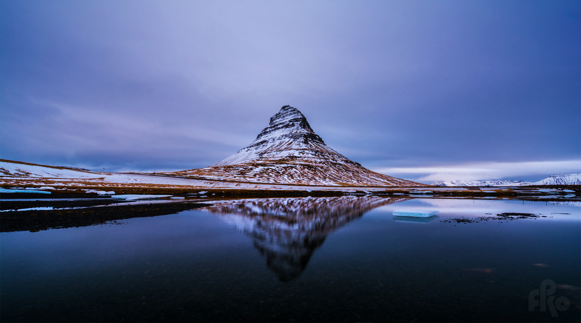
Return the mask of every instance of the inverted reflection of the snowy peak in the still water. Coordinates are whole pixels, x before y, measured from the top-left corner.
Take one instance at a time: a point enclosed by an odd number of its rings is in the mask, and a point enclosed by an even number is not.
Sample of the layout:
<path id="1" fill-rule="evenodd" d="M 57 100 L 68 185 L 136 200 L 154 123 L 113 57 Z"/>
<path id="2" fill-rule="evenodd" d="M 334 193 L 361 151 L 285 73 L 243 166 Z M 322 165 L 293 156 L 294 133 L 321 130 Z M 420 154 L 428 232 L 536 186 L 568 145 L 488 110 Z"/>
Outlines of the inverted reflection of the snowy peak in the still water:
<path id="1" fill-rule="evenodd" d="M 331 232 L 363 213 L 406 198 L 340 196 L 232 200 L 205 207 L 254 239 L 281 281 L 299 277 Z"/>

